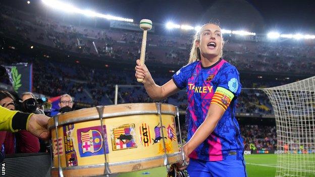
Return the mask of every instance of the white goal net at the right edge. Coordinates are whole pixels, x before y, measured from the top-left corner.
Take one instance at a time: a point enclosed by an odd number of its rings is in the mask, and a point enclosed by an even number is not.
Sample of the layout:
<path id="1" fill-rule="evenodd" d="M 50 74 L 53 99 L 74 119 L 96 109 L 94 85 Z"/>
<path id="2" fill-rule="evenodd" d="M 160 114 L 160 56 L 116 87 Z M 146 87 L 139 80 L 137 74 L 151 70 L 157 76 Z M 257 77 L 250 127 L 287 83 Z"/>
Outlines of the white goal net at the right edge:
<path id="1" fill-rule="evenodd" d="M 315 176 L 315 76 L 262 90 L 276 119 L 276 176 Z"/>

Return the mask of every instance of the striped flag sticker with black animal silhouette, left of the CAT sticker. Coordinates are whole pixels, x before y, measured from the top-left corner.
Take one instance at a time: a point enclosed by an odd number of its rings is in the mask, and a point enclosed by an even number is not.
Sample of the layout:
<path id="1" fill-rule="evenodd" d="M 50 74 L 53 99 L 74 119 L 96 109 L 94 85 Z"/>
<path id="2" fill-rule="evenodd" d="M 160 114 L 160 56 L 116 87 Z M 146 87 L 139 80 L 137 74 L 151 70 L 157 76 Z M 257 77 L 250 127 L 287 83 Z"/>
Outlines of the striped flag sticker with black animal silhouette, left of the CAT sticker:
<path id="1" fill-rule="evenodd" d="M 137 144 L 135 137 L 135 125 L 124 124 L 113 129 L 112 144 L 113 151 L 136 148 Z"/>

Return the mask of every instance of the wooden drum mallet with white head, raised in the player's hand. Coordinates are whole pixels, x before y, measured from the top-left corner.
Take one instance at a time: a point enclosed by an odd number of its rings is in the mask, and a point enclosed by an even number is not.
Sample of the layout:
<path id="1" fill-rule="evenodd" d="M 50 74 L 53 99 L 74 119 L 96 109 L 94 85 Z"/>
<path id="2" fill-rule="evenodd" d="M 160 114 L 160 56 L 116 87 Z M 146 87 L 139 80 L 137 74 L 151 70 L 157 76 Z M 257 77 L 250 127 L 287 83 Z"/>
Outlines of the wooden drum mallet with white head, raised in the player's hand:
<path id="1" fill-rule="evenodd" d="M 143 30 L 142 44 L 141 44 L 141 53 L 140 53 L 140 66 L 144 65 L 144 55 L 145 55 L 145 46 L 146 46 L 146 33 L 147 30 L 152 28 L 152 21 L 147 19 L 142 19 L 140 21 L 140 28 Z M 138 82 L 142 82 L 143 79 L 137 79 Z"/>

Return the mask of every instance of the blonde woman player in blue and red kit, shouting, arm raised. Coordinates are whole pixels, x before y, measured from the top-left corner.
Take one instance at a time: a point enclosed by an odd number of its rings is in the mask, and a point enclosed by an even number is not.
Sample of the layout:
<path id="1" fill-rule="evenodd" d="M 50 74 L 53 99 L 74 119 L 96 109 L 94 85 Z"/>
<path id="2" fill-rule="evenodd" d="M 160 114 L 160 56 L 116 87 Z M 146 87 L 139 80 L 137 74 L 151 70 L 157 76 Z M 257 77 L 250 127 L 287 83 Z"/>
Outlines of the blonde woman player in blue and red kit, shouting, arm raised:
<path id="1" fill-rule="evenodd" d="M 186 88 L 190 119 L 183 151 L 191 177 L 246 176 L 243 141 L 235 119 L 241 84 L 237 69 L 221 58 L 221 28 L 212 23 L 203 25 L 192 44 L 188 65 L 163 86 L 154 83 L 139 60 L 135 76 L 143 79 L 148 95 L 155 100 Z M 186 168 L 181 163 L 178 167 Z"/>

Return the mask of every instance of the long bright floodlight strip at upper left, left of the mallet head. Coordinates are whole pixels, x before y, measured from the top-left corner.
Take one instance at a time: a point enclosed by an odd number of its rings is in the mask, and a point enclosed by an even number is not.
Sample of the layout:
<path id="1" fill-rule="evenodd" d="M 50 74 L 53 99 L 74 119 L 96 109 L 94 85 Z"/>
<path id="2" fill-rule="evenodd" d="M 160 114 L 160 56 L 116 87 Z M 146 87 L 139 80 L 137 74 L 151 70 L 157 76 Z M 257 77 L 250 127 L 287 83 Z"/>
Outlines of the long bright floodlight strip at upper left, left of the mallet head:
<path id="1" fill-rule="evenodd" d="M 99 17 L 99 18 L 104 18 L 108 20 L 117 20 L 117 21 L 124 21 L 124 22 L 133 22 L 133 19 L 128 19 L 128 18 L 122 18 L 122 17 L 116 17 L 116 16 L 111 16 L 111 15 L 105 15 L 105 14 L 100 14 L 96 13 L 90 10 L 81 10 L 78 9 L 70 4 L 66 4 L 57 0 L 41 0 L 45 5 L 58 9 L 61 11 L 64 11 L 66 13 L 77 13 L 77 14 L 82 14 L 86 15 L 89 17 Z"/>

